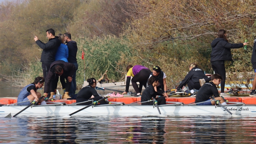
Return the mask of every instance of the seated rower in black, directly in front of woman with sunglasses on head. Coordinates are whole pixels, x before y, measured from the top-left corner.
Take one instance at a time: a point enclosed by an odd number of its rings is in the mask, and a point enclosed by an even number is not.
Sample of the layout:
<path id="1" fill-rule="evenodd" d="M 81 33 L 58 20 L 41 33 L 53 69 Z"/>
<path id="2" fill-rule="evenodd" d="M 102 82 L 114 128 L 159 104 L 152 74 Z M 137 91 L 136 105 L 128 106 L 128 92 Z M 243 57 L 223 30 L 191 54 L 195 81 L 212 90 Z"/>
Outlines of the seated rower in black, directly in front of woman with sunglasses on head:
<path id="1" fill-rule="evenodd" d="M 158 86 L 159 79 L 156 76 L 151 76 L 148 79 L 148 86 L 143 91 L 141 96 L 141 102 L 147 102 L 148 100 L 152 100 L 153 98 L 156 98 L 156 101 L 158 105 L 165 105 L 166 100 L 163 94 L 156 92 L 154 87 Z M 156 96 L 159 96 L 158 98 Z M 153 101 L 147 102 L 147 103 L 141 103 L 141 105 L 153 105 Z"/>

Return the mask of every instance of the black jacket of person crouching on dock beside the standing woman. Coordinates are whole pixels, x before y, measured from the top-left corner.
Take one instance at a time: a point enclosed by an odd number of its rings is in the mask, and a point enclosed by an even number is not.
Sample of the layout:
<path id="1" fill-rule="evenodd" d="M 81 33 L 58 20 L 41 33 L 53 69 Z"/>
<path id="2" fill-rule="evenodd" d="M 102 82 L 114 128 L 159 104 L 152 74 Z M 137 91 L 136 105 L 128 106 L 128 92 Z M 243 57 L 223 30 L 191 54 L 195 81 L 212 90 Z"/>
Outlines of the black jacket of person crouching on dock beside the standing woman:
<path id="1" fill-rule="evenodd" d="M 183 86 L 186 86 L 190 79 L 192 79 L 193 83 L 199 83 L 199 79 L 206 78 L 208 78 L 208 76 L 206 76 L 204 72 L 196 66 L 188 72 L 187 76 L 185 76 L 185 78 L 181 81 L 180 85 L 177 88 L 182 88 Z"/>

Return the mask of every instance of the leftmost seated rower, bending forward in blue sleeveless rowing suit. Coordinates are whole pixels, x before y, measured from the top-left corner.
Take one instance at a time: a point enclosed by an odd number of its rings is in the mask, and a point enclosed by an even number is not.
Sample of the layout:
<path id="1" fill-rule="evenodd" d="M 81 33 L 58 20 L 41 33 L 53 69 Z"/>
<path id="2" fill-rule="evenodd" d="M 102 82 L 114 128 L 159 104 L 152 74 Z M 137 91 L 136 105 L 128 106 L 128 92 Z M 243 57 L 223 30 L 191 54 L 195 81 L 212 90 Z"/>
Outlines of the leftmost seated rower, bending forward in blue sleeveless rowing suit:
<path id="1" fill-rule="evenodd" d="M 45 82 L 45 79 L 43 77 L 37 77 L 35 78 L 34 82 L 26 85 L 21 91 L 18 96 L 17 105 L 30 105 L 30 103 L 35 100 L 35 102 L 38 101 L 38 99 L 41 97 L 41 94 L 37 92 L 37 89 L 41 89 L 43 87 Z M 30 101 L 28 101 L 30 100 Z M 28 101 L 28 102 L 24 102 Z M 39 103 L 43 102 L 44 100 L 40 100 Z M 23 102 L 23 103 L 19 103 Z"/>

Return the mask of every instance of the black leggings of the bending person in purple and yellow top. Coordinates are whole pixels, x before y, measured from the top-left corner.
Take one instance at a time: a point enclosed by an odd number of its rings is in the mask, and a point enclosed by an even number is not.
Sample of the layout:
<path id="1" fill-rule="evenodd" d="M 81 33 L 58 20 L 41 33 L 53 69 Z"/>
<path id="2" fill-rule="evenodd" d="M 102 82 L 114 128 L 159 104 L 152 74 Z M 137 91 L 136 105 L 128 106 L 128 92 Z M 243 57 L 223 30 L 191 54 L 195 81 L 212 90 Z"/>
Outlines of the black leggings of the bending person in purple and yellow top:
<path id="1" fill-rule="evenodd" d="M 136 93 L 141 93 L 142 91 L 142 85 L 146 88 L 147 87 L 147 81 L 149 78 L 149 75 L 151 74 L 151 70 L 149 69 L 142 69 L 137 73 L 131 80 L 132 87 L 134 87 L 134 90 Z M 139 82 L 139 87 L 137 85 L 137 82 Z"/>

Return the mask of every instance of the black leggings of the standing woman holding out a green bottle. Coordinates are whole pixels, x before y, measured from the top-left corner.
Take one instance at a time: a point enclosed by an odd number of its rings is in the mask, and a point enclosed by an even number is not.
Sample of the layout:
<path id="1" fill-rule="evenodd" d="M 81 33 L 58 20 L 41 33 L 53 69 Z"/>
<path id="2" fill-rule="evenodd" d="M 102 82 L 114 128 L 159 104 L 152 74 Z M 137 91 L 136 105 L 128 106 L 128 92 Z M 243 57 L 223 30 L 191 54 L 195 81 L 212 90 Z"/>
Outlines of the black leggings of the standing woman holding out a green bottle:
<path id="1" fill-rule="evenodd" d="M 221 93 L 224 92 L 225 82 L 226 82 L 226 69 L 225 65 L 211 65 L 212 69 L 214 70 L 215 74 L 219 74 L 222 77 L 221 81 Z"/>

